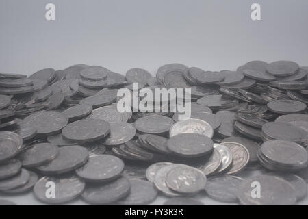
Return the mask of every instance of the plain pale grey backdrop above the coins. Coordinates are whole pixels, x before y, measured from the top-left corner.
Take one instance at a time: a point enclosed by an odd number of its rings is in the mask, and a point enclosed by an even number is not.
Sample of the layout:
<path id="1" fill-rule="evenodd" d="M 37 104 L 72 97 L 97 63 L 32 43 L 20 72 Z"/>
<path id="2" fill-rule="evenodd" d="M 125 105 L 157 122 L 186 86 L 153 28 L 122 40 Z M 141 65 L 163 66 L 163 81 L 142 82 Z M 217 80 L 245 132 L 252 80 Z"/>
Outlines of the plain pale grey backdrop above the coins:
<path id="1" fill-rule="evenodd" d="M 46 21 L 54 3 L 56 20 Z M 251 5 L 262 21 L 251 21 Z M 166 63 L 233 70 L 250 60 L 308 65 L 307 0 L 0 0 L 0 71 L 96 64 L 155 74 Z"/>

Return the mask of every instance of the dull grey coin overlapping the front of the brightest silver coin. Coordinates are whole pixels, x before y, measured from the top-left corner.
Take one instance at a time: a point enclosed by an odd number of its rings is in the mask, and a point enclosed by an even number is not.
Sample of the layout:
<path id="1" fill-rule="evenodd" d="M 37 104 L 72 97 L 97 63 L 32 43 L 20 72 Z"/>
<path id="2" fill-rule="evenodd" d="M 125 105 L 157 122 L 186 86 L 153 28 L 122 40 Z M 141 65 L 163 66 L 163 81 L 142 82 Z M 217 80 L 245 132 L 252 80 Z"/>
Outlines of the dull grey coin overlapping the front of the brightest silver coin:
<path id="1" fill-rule="evenodd" d="M 200 157 L 213 151 L 213 141 L 207 136 L 197 133 L 182 133 L 172 136 L 168 149 L 181 157 Z"/>

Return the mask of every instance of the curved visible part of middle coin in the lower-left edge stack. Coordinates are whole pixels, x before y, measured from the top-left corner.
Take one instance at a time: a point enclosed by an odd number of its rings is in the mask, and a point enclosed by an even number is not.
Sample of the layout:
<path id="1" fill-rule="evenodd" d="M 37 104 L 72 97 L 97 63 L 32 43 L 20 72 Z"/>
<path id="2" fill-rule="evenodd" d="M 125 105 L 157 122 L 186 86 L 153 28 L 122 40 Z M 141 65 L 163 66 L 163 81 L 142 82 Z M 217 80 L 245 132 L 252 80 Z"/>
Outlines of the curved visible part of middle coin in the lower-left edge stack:
<path id="1" fill-rule="evenodd" d="M 28 170 L 21 169 L 17 175 L 0 181 L 0 190 L 12 190 L 19 186 L 25 185 L 29 181 L 30 175 Z"/>

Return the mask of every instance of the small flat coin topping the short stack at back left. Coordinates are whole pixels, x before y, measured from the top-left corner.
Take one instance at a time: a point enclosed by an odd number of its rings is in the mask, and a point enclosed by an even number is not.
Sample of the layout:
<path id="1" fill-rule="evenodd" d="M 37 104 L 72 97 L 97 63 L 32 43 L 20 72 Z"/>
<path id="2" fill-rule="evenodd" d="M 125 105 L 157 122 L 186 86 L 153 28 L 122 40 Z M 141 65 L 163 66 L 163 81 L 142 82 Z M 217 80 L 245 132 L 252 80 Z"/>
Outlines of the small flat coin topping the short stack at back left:
<path id="1" fill-rule="evenodd" d="M 80 71 L 80 76 L 89 81 L 99 81 L 107 77 L 110 70 L 103 68 L 101 66 L 88 66 Z"/>

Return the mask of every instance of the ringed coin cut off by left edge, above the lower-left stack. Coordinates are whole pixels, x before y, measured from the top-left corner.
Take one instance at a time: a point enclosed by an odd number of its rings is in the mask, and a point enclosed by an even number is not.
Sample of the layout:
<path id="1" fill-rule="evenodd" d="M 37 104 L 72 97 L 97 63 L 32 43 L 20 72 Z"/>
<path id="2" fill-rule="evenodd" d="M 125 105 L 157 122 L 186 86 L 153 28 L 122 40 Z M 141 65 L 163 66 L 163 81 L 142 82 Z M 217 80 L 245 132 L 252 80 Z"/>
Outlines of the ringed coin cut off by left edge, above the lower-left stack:
<path id="1" fill-rule="evenodd" d="M 23 138 L 10 131 L 0 131 L 0 162 L 15 157 L 23 146 Z"/>

